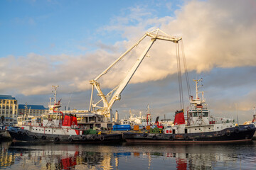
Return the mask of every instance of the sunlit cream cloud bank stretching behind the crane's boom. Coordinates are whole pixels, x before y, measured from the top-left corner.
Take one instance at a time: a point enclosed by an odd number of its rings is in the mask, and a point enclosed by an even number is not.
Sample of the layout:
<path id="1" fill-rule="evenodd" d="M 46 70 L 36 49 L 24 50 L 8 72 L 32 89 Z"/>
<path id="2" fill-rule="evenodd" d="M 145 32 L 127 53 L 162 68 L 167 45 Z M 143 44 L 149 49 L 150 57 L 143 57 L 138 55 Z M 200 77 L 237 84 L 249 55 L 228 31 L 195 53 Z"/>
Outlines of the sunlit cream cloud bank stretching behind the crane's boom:
<path id="1" fill-rule="evenodd" d="M 188 71 L 209 72 L 215 67 L 256 66 L 256 2 L 255 1 L 186 1 L 175 16 L 159 18 L 149 8 L 129 8 L 129 15 L 117 16 L 104 33 L 122 33 L 123 41 L 111 48 L 98 42 L 102 49 L 85 55 L 38 55 L 2 57 L 0 92 L 35 95 L 50 93 L 50 86 L 61 85 L 61 92 L 90 89 L 88 81 L 97 77 L 122 52 L 146 32 L 160 28 L 169 35 L 183 38 Z M 171 8 L 169 9 L 171 10 Z M 135 23 L 135 24 L 134 24 Z M 144 45 L 102 77 L 102 88 L 112 88 L 125 76 L 141 54 Z M 82 45 L 80 46 L 82 47 Z M 15 48 L 15 47 L 14 47 Z M 175 46 L 156 41 L 150 57 L 139 67 L 132 83 L 164 79 L 176 73 Z M 121 74 L 122 73 L 122 74 Z"/>

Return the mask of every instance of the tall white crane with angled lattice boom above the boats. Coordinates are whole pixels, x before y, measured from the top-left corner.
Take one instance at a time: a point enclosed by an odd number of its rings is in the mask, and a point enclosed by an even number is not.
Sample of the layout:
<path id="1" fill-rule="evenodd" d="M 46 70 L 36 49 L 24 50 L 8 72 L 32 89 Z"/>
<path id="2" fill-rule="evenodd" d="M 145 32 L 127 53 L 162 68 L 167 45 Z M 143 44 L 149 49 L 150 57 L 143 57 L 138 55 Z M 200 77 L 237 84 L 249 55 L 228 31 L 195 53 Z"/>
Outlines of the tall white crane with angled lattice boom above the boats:
<path id="1" fill-rule="evenodd" d="M 160 33 L 162 35 L 160 35 Z M 144 40 L 144 38 L 146 38 L 147 36 L 149 36 L 151 38 L 151 41 L 146 46 L 146 49 L 144 50 L 144 52 L 142 52 L 142 55 L 140 55 L 139 58 L 137 59 L 137 61 L 134 63 L 132 68 L 129 69 L 129 72 L 127 73 L 126 77 L 121 81 L 121 83 L 118 86 L 116 86 L 112 91 L 110 91 L 109 94 L 107 94 L 107 95 L 103 94 L 102 90 L 100 89 L 100 83 L 98 83 L 97 80 L 100 79 L 100 77 L 102 77 L 102 75 L 106 74 L 112 67 L 114 67 L 114 65 L 117 64 L 117 62 L 119 62 L 119 60 L 121 60 L 125 55 L 127 55 L 127 53 L 130 52 L 134 47 L 139 45 L 139 43 L 142 42 L 142 40 Z M 170 36 L 170 35 L 164 33 L 162 30 L 159 30 L 159 28 L 152 31 L 152 32 L 146 32 L 143 35 L 143 37 L 135 43 L 135 45 L 133 45 L 131 48 L 129 48 L 129 50 L 127 50 L 126 52 L 124 52 L 124 54 L 122 54 L 117 60 L 115 60 L 110 65 L 110 67 L 107 67 L 107 69 L 105 69 L 104 72 L 102 72 L 95 79 L 92 79 L 90 81 L 90 84 L 92 84 L 92 94 L 91 94 L 91 98 L 90 98 L 89 111 L 90 112 L 97 112 L 101 115 L 105 115 L 105 117 L 108 120 L 110 120 L 110 114 L 111 114 L 110 112 L 111 112 L 111 108 L 112 108 L 114 102 L 121 99 L 122 91 L 127 86 L 130 79 L 132 79 L 132 76 L 137 71 L 137 68 L 139 67 L 139 64 L 142 63 L 142 61 L 144 60 L 144 57 L 146 56 L 147 52 L 149 52 L 149 49 L 154 44 L 154 42 L 156 40 L 166 40 L 166 41 L 171 41 L 171 42 L 174 42 L 174 43 L 178 43 L 178 41 L 181 40 L 181 39 L 182 38 L 176 38 L 176 37 Z M 97 90 L 97 92 L 98 92 L 97 95 L 100 96 L 100 98 L 101 98 L 100 101 L 97 101 L 97 103 L 93 103 L 93 101 L 92 101 L 92 96 L 93 96 L 94 89 Z M 112 96 L 112 98 L 110 98 L 111 96 Z M 110 98 L 110 100 L 108 101 L 107 98 Z M 100 102 L 103 103 L 103 107 L 98 106 Z M 100 109 L 95 111 L 95 108 L 100 108 Z"/>

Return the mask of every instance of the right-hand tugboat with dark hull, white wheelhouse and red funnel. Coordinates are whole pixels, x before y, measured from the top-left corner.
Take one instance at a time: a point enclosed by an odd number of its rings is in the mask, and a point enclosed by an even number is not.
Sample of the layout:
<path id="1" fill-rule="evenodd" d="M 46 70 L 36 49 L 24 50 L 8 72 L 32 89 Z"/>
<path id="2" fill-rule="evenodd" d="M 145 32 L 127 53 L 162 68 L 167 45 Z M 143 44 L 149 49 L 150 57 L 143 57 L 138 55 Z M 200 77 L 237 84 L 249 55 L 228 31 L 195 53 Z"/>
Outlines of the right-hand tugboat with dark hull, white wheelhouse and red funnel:
<path id="1" fill-rule="evenodd" d="M 144 133 L 125 132 L 127 142 L 146 143 L 214 143 L 214 142 L 246 142 L 252 140 L 255 125 L 235 125 L 235 120 L 214 118 L 203 104 L 206 102 L 198 97 L 198 82 L 196 82 L 196 98 L 190 97 L 191 108 L 188 108 L 187 118 L 184 111 L 176 111 L 174 124 L 171 128 L 151 130 Z"/>

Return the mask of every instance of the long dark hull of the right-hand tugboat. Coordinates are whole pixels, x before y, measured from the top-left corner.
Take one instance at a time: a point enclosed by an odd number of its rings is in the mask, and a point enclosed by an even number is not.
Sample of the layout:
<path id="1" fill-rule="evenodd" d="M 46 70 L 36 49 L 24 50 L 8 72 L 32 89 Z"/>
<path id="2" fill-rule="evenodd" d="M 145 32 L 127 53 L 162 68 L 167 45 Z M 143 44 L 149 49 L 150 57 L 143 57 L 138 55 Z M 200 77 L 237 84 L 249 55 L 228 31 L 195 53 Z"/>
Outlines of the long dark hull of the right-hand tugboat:
<path id="1" fill-rule="evenodd" d="M 254 125 L 240 125 L 236 128 L 226 128 L 216 132 L 188 134 L 139 134 L 124 132 L 123 137 L 127 142 L 137 143 L 228 143 L 250 141 L 255 130 Z"/>

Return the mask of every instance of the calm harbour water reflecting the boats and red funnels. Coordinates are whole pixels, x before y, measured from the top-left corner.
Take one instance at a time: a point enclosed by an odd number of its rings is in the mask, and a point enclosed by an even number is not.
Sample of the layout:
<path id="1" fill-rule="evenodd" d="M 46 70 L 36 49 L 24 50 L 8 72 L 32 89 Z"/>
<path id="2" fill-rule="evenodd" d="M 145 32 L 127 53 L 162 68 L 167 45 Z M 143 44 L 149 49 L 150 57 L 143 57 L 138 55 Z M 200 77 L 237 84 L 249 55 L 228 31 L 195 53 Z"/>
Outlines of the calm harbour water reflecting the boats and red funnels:
<path id="1" fill-rule="evenodd" d="M 225 145 L 0 142 L 0 169 L 256 169 L 256 142 Z"/>

